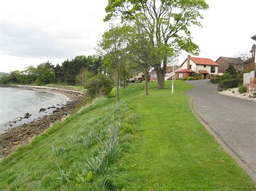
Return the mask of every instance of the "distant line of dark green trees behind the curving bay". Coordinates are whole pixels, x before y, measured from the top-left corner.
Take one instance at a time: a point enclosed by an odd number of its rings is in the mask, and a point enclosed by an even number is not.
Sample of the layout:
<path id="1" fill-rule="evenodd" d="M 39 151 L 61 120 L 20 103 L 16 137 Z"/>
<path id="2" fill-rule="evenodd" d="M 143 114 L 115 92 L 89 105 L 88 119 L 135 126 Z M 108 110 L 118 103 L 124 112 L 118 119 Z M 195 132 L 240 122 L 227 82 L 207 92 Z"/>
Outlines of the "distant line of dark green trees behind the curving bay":
<path id="1" fill-rule="evenodd" d="M 69 85 L 83 84 L 86 76 L 106 73 L 103 59 L 97 55 L 79 55 L 72 60 L 65 60 L 61 65 L 53 66 L 47 61 L 37 67 L 28 66 L 24 70 L 10 72 L 0 77 L 1 84 L 48 84 L 64 83 Z"/>

